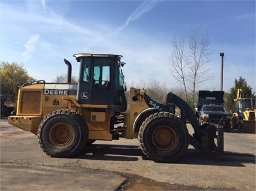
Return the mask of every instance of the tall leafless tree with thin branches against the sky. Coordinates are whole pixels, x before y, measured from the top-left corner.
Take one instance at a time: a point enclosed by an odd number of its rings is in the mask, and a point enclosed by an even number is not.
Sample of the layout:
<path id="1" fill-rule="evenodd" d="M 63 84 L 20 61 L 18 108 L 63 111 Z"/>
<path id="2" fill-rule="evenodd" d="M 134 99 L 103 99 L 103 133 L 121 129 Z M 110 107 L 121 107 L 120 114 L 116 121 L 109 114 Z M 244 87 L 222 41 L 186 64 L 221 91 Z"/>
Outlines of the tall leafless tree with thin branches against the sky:
<path id="1" fill-rule="evenodd" d="M 171 75 L 182 84 L 186 101 L 195 101 L 198 85 L 213 78 L 207 69 L 211 54 L 209 34 L 201 32 L 200 28 L 191 29 L 187 40 L 174 38 L 173 48 L 169 63 Z"/>

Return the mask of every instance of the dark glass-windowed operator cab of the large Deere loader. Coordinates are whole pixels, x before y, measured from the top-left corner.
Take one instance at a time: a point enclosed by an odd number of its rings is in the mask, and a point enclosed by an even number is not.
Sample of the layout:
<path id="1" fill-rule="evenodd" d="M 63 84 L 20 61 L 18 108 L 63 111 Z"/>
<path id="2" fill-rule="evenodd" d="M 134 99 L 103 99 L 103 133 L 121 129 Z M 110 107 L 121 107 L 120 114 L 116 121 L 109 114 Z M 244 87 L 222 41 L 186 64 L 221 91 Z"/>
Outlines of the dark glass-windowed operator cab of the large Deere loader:
<path id="1" fill-rule="evenodd" d="M 121 55 L 74 54 L 80 63 L 77 100 L 79 104 L 108 105 L 114 112 L 127 108 L 126 83 Z"/>

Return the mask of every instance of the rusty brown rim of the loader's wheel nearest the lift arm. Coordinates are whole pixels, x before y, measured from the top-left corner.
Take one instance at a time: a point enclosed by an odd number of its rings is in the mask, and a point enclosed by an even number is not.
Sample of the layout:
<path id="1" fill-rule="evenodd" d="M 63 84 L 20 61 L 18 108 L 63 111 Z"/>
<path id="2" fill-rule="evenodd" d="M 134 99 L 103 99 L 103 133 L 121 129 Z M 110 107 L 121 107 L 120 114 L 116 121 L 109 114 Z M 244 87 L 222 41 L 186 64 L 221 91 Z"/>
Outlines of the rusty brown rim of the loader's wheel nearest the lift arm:
<path id="1" fill-rule="evenodd" d="M 153 131 L 152 141 L 159 150 L 171 150 L 177 140 L 177 134 L 169 126 L 159 126 Z"/>

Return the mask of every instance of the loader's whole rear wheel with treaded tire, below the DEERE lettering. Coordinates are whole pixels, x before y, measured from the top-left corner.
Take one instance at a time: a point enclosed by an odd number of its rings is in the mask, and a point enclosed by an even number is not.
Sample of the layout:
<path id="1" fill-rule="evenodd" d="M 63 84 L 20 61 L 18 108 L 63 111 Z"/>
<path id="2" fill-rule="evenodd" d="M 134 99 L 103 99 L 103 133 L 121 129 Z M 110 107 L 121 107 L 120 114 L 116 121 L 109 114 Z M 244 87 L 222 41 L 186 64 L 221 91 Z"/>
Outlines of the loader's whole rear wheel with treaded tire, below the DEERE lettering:
<path id="1" fill-rule="evenodd" d="M 38 143 L 52 157 L 73 157 L 84 150 L 88 127 L 84 118 L 72 110 L 57 110 L 40 123 Z"/>

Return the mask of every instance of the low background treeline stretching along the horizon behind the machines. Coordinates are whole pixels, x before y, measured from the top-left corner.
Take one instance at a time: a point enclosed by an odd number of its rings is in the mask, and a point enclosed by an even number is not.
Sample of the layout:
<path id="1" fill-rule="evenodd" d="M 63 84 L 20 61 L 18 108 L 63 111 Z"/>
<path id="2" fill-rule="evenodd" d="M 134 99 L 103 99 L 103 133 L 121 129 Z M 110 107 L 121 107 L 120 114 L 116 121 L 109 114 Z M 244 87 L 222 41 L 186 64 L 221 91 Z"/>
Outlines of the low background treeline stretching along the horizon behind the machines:
<path id="1" fill-rule="evenodd" d="M 1 76 L 1 95 L 8 95 L 11 93 L 11 87 L 13 84 L 19 83 L 24 84 L 31 81 L 35 81 L 34 77 L 31 77 L 25 68 L 17 62 L 4 62 L 1 61 L 0 64 L 0 76 Z M 66 83 L 67 74 L 58 75 L 56 79 L 53 80 L 56 83 Z M 72 77 L 72 83 L 77 83 L 78 79 Z M 136 87 L 138 89 L 145 89 L 147 95 L 151 97 L 156 102 L 160 104 L 166 104 L 166 95 L 169 92 L 174 93 L 190 105 L 194 110 L 195 104 L 197 102 L 198 90 L 194 92 L 186 92 L 183 88 L 180 87 L 167 87 L 165 82 L 150 80 L 150 81 L 130 81 L 127 83 L 127 92 L 126 97 L 129 102 L 129 89 L 130 87 Z M 234 86 L 231 87 L 230 92 L 225 92 L 225 108 L 227 111 L 234 112 L 234 99 L 237 96 L 237 89 L 242 89 L 243 98 L 252 98 L 255 97 L 255 92 L 252 92 L 252 87 L 249 86 L 245 78 L 239 77 L 234 80 Z M 196 99 L 195 99 L 196 98 Z"/>

